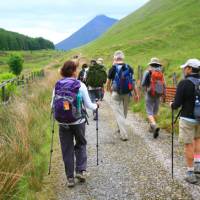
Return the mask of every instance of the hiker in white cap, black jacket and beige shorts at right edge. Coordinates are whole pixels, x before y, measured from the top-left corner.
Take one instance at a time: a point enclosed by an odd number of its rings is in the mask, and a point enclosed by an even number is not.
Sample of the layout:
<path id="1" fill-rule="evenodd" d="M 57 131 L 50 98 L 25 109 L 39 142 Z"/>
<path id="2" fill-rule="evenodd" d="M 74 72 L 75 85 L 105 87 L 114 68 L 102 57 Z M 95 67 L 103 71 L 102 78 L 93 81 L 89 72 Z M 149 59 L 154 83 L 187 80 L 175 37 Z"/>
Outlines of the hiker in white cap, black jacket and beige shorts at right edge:
<path id="1" fill-rule="evenodd" d="M 177 86 L 171 107 L 181 107 L 179 141 L 184 143 L 185 149 L 185 180 L 195 184 L 200 178 L 200 60 L 189 59 L 181 69 L 185 78 Z"/>

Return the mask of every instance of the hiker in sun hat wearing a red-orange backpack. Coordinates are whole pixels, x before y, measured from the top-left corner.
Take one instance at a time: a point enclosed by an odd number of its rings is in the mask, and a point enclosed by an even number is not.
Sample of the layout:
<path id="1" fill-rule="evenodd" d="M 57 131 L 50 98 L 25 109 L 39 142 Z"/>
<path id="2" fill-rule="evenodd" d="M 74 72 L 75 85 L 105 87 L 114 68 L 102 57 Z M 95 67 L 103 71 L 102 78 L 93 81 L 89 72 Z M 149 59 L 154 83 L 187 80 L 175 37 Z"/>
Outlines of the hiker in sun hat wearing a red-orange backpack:
<path id="1" fill-rule="evenodd" d="M 148 63 L 148 70 L 142 78 L 142 86 L 145 88 L 146 113 L 150 123 L 149 132 L 153 137 L 159 136 L 160 128 L 156 123 L 156 115 L 159 111 L 160 97 L 165 95 L 165 80 L 162 72 L 162 64 L 158 58 L 152 58 Z"/>

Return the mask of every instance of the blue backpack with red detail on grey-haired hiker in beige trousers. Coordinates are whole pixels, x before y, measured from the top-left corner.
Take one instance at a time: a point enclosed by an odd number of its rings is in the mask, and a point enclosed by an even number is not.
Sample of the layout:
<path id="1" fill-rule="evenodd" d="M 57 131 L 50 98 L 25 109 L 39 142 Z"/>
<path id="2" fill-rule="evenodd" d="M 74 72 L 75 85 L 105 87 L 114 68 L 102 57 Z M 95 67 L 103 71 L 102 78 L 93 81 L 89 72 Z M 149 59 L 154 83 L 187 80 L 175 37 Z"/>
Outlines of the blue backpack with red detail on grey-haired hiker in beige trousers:
<path id="1" fill-rule="evenodd" d="M 112 89 L 118 94 L 129 94 L 133 90 L 133 73 L 127 64 L 125 65 L 125 70 L 123 70 L 123 67 L 118 69 L 118 65 L 115 65 L 115 78 L 112 83 Z"/>

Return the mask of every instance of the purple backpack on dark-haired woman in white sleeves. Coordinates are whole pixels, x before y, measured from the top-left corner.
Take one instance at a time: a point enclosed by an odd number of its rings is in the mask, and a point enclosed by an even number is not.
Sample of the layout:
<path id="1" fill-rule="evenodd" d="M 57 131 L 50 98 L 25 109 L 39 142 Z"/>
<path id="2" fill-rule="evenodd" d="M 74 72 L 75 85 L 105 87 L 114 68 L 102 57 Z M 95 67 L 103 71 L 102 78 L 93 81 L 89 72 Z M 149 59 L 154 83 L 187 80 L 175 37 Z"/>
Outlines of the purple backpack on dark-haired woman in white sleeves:
<path id="1" fill-rule="evenodd" d="M 64 78 L 55 85 L 54 117 L 60 123 L 73 123 L 82 118 L 80 95 L 80 81 L 74 78 Z"/>

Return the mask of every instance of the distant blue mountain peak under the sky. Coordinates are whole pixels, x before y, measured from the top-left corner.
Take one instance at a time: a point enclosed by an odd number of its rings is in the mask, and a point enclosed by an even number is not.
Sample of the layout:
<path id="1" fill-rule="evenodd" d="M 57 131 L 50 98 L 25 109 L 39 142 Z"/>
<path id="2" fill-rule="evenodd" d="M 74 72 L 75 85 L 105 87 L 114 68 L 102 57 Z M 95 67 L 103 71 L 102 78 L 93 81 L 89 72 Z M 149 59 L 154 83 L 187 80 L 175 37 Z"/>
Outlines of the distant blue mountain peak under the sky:
<path id="1" fill-rule="evenodd" d="M 56 49 L 70 50 L 87 44 L 105 33 L 118 20 L 105 15 L 96 16 L 93 20 L 56 45 Z"/>

